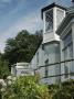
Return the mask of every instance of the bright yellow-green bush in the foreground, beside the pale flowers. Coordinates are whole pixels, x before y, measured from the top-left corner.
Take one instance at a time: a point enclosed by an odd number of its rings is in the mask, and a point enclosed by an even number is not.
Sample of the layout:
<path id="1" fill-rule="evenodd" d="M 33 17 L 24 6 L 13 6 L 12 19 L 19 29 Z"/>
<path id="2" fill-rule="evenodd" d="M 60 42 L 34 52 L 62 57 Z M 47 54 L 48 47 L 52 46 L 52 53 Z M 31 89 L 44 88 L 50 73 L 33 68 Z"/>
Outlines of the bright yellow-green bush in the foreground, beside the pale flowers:
<path id="1" fill-rule="evenodd" d="M 39 84 L 38 76 L 19 77 L 7 88 L 3 99 L 50 99 L 49 89 Z"/>

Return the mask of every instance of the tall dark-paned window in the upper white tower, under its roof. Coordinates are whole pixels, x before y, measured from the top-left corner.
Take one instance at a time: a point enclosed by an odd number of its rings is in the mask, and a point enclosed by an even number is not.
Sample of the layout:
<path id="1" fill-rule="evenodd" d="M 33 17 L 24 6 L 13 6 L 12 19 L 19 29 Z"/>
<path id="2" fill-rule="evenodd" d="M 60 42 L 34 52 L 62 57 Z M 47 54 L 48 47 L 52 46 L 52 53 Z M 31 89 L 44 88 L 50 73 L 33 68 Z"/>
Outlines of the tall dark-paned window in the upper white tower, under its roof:
<path id="1" fill-rule="evenodd" d="M 53 10 L 45 12 L 45 32 L 53 30 Z"/>

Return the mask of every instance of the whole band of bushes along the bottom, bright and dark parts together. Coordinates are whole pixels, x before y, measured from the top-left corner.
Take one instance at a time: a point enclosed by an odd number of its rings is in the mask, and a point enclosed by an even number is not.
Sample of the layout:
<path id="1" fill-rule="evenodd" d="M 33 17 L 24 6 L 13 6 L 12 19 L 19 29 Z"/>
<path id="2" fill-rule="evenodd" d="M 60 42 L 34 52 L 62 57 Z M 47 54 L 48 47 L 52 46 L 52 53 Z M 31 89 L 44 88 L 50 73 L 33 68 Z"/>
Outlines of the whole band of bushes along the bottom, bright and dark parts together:
<path id="1" fill-rule="evenodd" d="M 74 99 L 74 80 L 47 86 L 39 76 L 18 77 L 2 95 L 3 99 Z"/>

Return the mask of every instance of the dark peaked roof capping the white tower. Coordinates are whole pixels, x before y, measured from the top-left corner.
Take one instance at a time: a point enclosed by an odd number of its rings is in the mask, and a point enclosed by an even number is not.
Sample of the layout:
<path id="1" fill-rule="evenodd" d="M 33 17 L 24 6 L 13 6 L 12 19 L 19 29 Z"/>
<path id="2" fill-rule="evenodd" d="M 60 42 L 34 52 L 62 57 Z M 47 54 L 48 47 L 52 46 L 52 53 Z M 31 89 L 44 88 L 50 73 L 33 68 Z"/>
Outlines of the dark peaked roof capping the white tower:
<path id="1" fill-rule="evenodd" d="M 50 9 L 52 9 L 52 8 L 54 8 L 54 7 L 61 8 L 61 9 L 63 9 L 63 10 L 66 10 L 65 7 L 59 6 L 59 4 L 56 4 L 55 2 L 53 2 L 52 4 L 50 4 L 50 6 L 44 7 L 43 9 L 41 9 L 42 19 L 43 19 L 43 12 L 46 11 L 46 10 L 50 10 Z"/>

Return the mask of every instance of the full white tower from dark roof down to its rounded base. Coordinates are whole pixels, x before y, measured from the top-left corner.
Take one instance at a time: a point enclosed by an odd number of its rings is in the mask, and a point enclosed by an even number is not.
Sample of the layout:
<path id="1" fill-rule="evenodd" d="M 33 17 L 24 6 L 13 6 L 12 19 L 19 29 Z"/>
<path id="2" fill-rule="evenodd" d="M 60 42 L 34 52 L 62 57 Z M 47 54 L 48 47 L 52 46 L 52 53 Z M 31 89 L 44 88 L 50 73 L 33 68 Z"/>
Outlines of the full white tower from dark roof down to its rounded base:
<path id="1" fill-rule="evenodd" d="M 59 82 L 60 77 L 53 77 L 61 75 L 60 64 L 60 36 L 56 34 L 56 30 L 63 19 L 65 18 L 65 8 L 52 3 L 41 10 L 43 20 L 43 50 L 44 64 L 45 64 L 45 78 L 50 84 Z M 46 66 L 47 65 L 47 66 Z M 50 77 L 50 78 L 49 78 Z M 45 80 L 45 79 L 44 79 Z"/>

